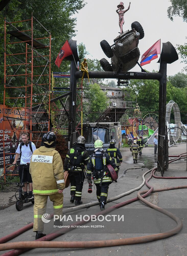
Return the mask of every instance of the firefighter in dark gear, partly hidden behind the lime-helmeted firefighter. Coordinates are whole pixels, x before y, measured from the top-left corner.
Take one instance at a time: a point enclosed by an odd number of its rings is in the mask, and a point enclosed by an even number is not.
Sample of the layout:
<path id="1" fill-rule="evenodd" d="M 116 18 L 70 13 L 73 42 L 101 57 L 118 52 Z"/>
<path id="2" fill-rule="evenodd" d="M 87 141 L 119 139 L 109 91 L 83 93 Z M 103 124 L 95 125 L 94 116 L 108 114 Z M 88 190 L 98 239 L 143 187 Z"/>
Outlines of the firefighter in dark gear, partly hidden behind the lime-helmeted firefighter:
<path id="1" fill-rule="evenodd" d="M 112 161 L 115 163 L 116 167 L 118 168 L 118 172 L 120 170 L 120 165 L 123 161 L 121 152 L 119 148 L 115 147 L 115 140 L 110 141 L 110 146 L 107 148 L 106 153 L 109 154 L 109 156 L 112 158 Z"/>

